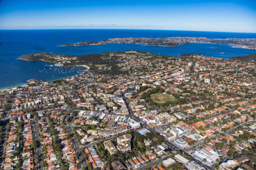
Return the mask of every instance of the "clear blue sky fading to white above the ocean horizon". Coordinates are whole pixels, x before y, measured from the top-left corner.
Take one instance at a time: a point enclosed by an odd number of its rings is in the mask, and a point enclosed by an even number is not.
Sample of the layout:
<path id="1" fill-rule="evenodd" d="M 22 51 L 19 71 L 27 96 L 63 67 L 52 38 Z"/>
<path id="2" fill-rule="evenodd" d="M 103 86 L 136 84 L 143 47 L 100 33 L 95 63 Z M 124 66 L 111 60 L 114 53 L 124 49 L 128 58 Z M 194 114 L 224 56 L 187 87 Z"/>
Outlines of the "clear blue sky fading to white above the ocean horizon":
<path id="1" fill-rule="evenodd" d="M 0 29 L 20 28 L 256 32 L 256 1 L 0 0 Z"/>

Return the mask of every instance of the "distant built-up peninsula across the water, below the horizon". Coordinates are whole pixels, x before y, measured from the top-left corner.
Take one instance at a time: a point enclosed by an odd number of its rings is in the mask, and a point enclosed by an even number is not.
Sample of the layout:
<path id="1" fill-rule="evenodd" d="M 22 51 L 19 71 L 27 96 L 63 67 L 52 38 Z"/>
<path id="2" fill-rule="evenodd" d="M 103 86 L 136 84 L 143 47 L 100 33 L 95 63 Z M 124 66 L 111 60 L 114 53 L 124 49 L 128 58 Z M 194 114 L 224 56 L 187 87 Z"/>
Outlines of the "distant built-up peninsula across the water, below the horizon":
<path id="1" fill-rule="evenodd" d="M 175 47 L 191 43 L 211 43 L 211 44 L 229 44 L 233 48 L 256 49 L 256 39 L 208 39 L 205 37 L 167 37 L 161 39 L 154 38 L 115 38 L 100 41 L 82 41 L 60 46 L 85 46 L 85 45 L 104 45 L 104 44 L 141 44 L 147 46 L 168 46 Z"/>

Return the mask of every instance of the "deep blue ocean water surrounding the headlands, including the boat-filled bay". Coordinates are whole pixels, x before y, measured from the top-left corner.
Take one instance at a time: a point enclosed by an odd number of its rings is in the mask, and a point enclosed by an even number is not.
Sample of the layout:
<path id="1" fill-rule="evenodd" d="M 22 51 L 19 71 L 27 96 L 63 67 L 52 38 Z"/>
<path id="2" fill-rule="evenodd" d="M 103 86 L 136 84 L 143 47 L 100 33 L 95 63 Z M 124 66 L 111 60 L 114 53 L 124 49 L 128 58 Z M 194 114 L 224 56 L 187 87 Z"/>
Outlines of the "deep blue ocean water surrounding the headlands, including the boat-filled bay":
<path id="1" fill-rule="evenodd" d="M 164 46 L 144 46 L 136 44 L 108 44 L 89 46 L 59 45 L 87 40 L 104 40 L 115 37 L 191 36 L 208 38 L 256 38 L 256 33 L 204 32 L 204 31 L 163 31 L 134 29 L 42 29 L 42 30 L 0 30 L 0 89 L 26 84 L 28 79 L 44 81 L 76 75 L 83 67 L 48 67 L 41 61 L 27 62 L 19 58 L 24 54 L 48 52 L 53 54 L 92 54 L 125 50 L 141 50 L 155 54 L 179 56 L 182 53 L 198 53 L 205 56 L 229 58 L 253 54 L 250 49 L 231 48 L 223 44 L 185 44 L 174 48 Z M 217 49 L 213 49 L 217 46 Z M 224 54 L 221 54 L 224 53 Z"/>

